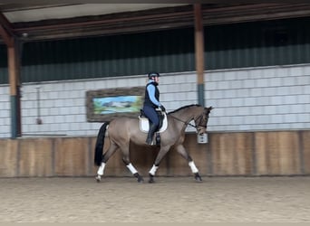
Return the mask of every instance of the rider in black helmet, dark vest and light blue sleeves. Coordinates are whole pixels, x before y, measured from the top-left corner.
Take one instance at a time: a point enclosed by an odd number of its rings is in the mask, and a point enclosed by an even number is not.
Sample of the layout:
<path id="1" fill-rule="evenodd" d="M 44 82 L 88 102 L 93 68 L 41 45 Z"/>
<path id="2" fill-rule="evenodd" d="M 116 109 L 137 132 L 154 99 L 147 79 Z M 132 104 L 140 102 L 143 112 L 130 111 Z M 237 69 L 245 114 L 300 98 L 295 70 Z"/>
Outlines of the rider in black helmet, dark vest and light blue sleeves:
<path id="1" fill-rule="evenodd" d="M 160 90 L 157 87 L 160 81 L 160 74 L 158 72 L 150 72 L 148 77 L 149 81 L 145 87 L 143 111 L 146 117 L 150 119 L 150 129 L 146 143 L 151 145 L 154 133 L 160 125 L 160 118 L 155 108 L 160 108 L 162 111 L 166 111 L 166 108 L 160 103 Z"/>

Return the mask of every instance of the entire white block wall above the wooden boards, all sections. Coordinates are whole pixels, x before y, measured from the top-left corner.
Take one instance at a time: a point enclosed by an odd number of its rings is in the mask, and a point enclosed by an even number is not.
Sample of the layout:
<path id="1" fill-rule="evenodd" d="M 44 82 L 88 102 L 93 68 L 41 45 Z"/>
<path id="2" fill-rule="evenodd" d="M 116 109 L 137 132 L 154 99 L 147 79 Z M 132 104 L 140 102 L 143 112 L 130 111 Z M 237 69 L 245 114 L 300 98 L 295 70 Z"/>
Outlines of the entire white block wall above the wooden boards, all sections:
<path id="1" fill-rule="evenodd" d="M 206 71 L 206 106 L 213 106 L 210 131 L 310 128 L 310 65 Z M 86 118 L 86 91 L 144 86 L 146 76 L 99 80 L 24 83 L 22 131 L 25 135 L 94 136 L 101 123 Z M 38 112 L 37 92 L 40 92 Z M 195 104 L 195 72 L 163 74 L 160 99 L 168 111 Z M 36 124 L 40 114 L 42 125 Z M 10 137 L 8 86 L 0 86 L 0 138 Z M 192 131 L 192 128 L 188 129 Z"/>

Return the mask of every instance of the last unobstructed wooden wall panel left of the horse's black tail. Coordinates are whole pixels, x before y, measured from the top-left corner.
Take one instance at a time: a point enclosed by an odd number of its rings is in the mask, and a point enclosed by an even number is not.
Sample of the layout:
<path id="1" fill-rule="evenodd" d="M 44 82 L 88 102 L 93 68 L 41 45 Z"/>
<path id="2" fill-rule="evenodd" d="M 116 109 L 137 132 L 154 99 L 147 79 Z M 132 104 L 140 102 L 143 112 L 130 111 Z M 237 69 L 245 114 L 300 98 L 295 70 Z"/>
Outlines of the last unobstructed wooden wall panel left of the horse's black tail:
<path id="1" fill-rule="evenodd" d="M 82 176 L 89 172 L 88 138 L 56 138 L 55 175 Z"/>

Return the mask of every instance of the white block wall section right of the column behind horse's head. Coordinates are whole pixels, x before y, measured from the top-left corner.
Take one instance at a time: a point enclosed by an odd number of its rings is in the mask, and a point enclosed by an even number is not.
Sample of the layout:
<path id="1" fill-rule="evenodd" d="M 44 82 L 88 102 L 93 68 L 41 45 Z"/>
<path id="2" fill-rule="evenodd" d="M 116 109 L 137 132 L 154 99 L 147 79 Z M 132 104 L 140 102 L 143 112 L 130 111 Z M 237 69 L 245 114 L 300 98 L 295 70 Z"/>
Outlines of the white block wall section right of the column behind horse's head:
<path id="1" fill-rule="evenodd" d="M 281 130 L 310 127 L 310 66 L 210 71 L 210 129 Z"/>

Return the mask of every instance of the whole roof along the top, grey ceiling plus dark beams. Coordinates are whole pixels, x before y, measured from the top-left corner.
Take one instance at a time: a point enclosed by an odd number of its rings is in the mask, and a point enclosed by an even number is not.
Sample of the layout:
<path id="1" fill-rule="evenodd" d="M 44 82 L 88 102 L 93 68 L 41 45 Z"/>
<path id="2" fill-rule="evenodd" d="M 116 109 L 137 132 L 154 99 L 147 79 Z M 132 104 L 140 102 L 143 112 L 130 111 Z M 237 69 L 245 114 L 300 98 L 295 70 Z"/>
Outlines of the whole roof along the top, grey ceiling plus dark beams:
<path id="1" fill-rule="evenodd" d="M 54 1 L 53 1 L 54 2 Z M 250 4 L 205 1 L 203 24 L 229 24 L 301 17 L 310 5 L 247 1 Z M 259 3 L 260 2 L 260 3 Z M 0 28 L 24 40 L 51 40 L 193 26 L 190 4 L 0 4 Z M 0 42 L 1 39 L 0 29 Z"/>

